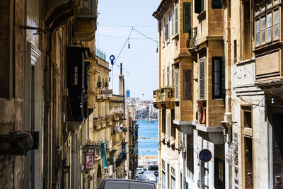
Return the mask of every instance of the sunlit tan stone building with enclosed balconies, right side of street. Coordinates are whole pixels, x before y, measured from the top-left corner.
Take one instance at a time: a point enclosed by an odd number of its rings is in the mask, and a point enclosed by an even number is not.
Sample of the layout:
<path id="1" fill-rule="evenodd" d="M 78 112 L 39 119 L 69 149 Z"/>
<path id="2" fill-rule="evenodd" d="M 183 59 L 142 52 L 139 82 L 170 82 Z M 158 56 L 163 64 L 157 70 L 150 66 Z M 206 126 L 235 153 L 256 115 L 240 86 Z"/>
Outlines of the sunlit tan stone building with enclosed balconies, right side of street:
<path id="1" fill-rule="evenodd" d="M 180 14 L 175 49 L 169 35 L 173 8 Z M 154 91 L 165 164 L 161 188 L 283 187 L 281 13 L 279 0 L 161 1 L 154 13 L 161 49 L 160 89 Z M 187 45 L 183 53 L 182 44 Z M 168 62 L 173 66 L 166 69 Z M 175 118 L 164 127 L 168 109 Z M 178 186 L 163 175 L 166 161 L 172 161 L 163 155 L 171 147 L 163 144 L 170 127 L 180 131 L 183 144 L 179 180 L 184 183 Z M 210 161 L 200 159 L 202 149 L 211 151 Z"/>

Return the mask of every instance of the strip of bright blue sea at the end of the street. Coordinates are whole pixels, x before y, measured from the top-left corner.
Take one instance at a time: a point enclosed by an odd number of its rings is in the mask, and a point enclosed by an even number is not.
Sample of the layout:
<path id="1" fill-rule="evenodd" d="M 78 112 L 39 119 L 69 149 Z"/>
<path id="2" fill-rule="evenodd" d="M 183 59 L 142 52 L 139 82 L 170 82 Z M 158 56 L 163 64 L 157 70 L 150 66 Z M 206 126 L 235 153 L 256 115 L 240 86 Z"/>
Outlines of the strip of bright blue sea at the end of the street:
<path id="1" fill-rule="evenodd" d="M 137 124 L 139 124 L 139 156 L 158 155 L 158 120 L 154 122 L 140 120 Z"/>

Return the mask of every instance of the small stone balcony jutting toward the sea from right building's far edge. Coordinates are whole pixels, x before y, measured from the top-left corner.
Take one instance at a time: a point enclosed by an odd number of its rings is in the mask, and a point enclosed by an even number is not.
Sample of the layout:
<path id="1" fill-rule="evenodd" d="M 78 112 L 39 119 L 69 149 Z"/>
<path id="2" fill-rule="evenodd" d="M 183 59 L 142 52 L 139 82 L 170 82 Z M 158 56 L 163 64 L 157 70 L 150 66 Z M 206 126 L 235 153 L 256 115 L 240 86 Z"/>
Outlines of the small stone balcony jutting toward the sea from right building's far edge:
<path id="1" fill-rule="evenodd" d="M 154 107 L 159 109 L 175 108 L 175 88 L 163 87 L 154 91 Z"/>

